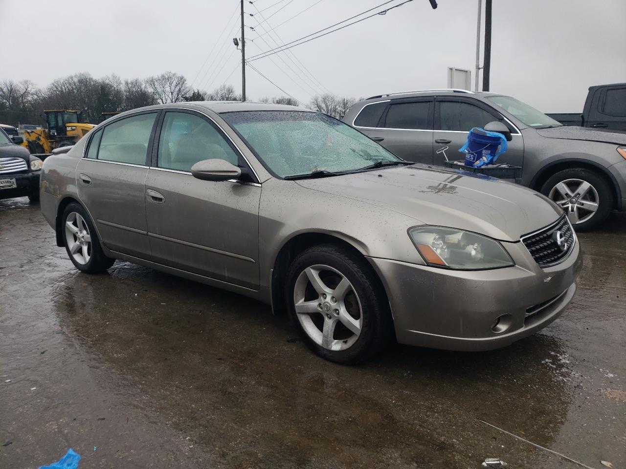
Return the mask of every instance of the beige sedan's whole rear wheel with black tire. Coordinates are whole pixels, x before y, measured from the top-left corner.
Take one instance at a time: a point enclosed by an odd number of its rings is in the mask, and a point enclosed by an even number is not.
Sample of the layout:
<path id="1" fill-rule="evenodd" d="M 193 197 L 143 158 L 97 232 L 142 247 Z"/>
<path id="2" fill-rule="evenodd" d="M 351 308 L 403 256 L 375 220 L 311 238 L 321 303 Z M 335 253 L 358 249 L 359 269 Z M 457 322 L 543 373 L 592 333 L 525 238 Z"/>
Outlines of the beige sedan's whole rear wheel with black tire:
<path id="1" fill-rule="evenodd" d="M 96 229 L 87 211 L 76 202 L 66 206 L 61 218 L 61 236 L 69 260 L 86 273 L 101 273 L 110 268 L 115 259 L 103 253 Z"/>

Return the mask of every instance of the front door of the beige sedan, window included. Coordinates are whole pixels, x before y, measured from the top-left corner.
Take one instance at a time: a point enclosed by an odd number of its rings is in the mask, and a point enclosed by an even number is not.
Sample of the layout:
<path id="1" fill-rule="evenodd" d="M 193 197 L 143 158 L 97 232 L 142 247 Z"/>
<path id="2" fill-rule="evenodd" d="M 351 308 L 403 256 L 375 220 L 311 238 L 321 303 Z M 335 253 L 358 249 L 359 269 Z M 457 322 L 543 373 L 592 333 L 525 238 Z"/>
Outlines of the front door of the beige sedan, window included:
<path id="1" fill-rule="evenodd" d="M 153 256 L 174 268 L 258 289 L 260 184 L 194 178 L 191 168 L 203 159 L 247 163 L 201 114 L 167 111 L 160 120 L 145 186 Z"/>

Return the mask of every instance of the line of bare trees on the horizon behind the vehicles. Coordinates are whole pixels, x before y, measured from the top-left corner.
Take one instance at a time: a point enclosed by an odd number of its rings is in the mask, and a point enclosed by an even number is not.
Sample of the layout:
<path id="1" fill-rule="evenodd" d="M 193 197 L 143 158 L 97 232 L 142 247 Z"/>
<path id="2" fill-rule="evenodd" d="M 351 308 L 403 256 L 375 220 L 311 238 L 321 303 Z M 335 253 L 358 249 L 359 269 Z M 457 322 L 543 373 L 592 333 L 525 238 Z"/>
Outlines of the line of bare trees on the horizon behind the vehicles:
<path id="1" fill-rule="evenodd" d="M 30 80 L 0 81 L 1 124 L 44 124 L 44 109 L 81 111 L 83 122 L 100 123 L 102 113 L 122 112 L 152 104 L 182 101 L 240 101 L 241 94 L 231 85 L 223 84 L 213 91 L 193 89 L 185 76 L 165 72 L 145 79 L 121 79 L 115 74 L 93 78 L 89 73 L 76 73 L 55 79 L 45 88 Z M 341 118 L 357 100 L 322 94 L 309 103 L 299 103 L 290 96 L 264 97 L 264 103 L 303 104 L 307 108 Z"/>

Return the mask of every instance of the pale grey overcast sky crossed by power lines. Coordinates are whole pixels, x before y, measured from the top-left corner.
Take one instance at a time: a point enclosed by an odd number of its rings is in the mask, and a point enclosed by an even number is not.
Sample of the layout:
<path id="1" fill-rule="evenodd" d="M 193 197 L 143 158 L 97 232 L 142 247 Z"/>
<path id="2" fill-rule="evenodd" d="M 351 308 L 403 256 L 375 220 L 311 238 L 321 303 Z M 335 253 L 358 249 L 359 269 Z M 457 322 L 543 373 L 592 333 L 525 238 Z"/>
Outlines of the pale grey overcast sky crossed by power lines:
<path id="1" fill-rule="evenodd" d="M 247 26 L 255 27 L 245 32 L 247 56 L 383 1 L 283 0 L 264 10 L 277 0 L 254 4 L 246 0 L 245 12 L 255 15 L 245 18 Z M 445 88 L 449 66 L 475 67 L 478 0 L 438 3 L 433 10 L 428 0 L 413 0 L 384 16 L 292 48 L 293 55 L 274 54 L 252 65 L 305 102 L 324 89 L 367 97 Z M 493 4 L 491 91 L 510 94 L 545 112 L 578 112 L 589 86 L 626 81 L 626 0 Z M 232 38 L 240 37 L 238 5 L 239 0 L 0 0 L 4 54 L 0 80 L 31 79 L 43 87 L 54 78 L 81 71 L 95 77 L 115 73 L 145 78 L 171 70 L 185 75 L 195 88 L 212 89 L 226 82 L 239 92 L 241 56 L 232 43 Z M 261 15 L 267 21 L 257 26 Z M 270 31 L 257 38 L 263 27 L 276 28 L 278 37 Z M 481 44 L 481 56 L 482 52 Z M 473 82 L 472 71 L 472 87 Z M 280 94 L 247 68 L 249 99 Z"/>

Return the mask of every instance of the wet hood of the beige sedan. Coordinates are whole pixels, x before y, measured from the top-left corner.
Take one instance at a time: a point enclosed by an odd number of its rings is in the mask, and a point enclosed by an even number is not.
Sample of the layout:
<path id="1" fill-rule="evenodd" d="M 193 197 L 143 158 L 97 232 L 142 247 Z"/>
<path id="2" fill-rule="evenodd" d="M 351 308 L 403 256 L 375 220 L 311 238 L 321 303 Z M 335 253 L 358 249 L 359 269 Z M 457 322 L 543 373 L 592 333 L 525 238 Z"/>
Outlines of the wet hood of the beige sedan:
<path id="1" fill-rule="evenodd" d="M 520 236 L 553 223 L 563 213 L 523 186 L 421 165 L 297 182 L 402 213 L 416 219 L 416 224 L 465 229 L 501 241 L 519 241 Z"/>

